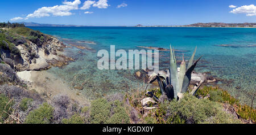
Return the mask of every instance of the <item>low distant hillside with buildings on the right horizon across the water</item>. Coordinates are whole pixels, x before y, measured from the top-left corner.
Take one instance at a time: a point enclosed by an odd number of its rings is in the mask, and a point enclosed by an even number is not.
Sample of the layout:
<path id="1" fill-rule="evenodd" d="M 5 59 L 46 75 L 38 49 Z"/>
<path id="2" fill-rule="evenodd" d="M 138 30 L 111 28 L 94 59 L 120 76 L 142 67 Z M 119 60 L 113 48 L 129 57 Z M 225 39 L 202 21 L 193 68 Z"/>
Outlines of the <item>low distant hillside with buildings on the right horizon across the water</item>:
<path id="1" fill-rule="evenodd" d="M 256 23 L 195 23 L 183 27 L 256 27 Z"/>

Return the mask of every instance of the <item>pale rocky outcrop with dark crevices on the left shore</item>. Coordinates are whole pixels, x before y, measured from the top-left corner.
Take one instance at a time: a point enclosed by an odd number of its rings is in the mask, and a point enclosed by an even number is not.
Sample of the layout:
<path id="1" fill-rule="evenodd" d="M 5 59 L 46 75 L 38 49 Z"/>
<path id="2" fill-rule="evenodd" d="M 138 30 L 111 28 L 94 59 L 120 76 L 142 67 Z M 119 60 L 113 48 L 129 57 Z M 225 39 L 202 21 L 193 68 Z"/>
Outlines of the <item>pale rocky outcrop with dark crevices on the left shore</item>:
<path id="1" fill-rule="evenodd" d="M 15 71 L 40 71 L 51 66 L 61 67 L 73 61 L 62 54 L 61 51 L 67 46 L 57 38 L 30 30 L 29 37 L 24 37 L 17 33 L 6 32 L 7 42 L 15 45 L 16 54 L 10 48 L 0 47 L 1 58 L 9 64 Z M 18 35 L 18 40 L 14 40 L 11 35 Z M 16 36 L 16 37 L 18 37 Z M 6 41 L 2 41 L 7 43 Z M 8 45 L 8 43 L 7 43 Z"/>

